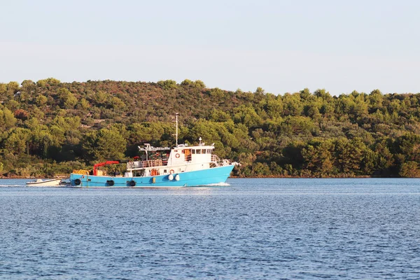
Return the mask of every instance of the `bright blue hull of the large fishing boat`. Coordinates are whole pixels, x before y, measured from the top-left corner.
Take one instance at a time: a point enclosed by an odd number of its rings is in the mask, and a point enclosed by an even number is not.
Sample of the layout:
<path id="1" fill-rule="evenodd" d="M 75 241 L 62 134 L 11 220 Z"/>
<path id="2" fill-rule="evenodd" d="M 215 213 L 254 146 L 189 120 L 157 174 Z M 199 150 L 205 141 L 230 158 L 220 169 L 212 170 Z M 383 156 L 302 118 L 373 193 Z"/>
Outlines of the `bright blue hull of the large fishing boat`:
<path id="1" fill-rule="evenodd" d="M 206 186 L 225 183 L 235 165 L 214 167 L 179 173 L 179 181 L 169 180 L 169 175 L 147 177 L 113 177 L 70 174 L 71 186 L 78 188 L 172 188 Z M 173 174 L 174 178 L 177 174 Z M 80 182 L 80 183 L 79 183 Z M 133 183 L 134 182 L 134 183 Z M 134 186 L 133 186 L 134 185 Z"/>

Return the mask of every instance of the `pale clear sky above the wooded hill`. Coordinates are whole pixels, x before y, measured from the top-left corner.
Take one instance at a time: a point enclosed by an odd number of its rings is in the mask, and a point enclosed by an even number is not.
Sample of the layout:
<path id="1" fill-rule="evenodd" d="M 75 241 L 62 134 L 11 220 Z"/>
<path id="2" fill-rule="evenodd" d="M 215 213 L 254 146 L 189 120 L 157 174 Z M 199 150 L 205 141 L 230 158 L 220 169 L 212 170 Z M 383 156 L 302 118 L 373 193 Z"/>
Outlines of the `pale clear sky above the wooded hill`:
<path id="1" fill-rule="evenodd" d="M 0 83 L 420 92 L 420 1 L 0 0 Z"/>

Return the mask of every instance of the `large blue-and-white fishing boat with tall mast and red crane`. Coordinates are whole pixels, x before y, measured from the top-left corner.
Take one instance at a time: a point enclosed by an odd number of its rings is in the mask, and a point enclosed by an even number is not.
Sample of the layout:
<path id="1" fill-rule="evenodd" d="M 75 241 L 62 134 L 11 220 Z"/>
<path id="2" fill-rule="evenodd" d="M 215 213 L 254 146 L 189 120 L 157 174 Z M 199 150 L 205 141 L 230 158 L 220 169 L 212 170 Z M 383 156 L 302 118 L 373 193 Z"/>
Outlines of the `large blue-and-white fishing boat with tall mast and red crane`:
<path id="1" fill-rule="evenodd" d="M 141 156 L 133 160 L 109 160 L 87 170 L 73 170 L 70 183 L 78 188 L 172 188 L 209 186 L 225 183 L 233 167 L 239 165 L 230 160 L 221 160 L 213 154 L 214 144 L 197 146 L 178 144 L 178 115 L 176 115 L 176 146 L 139 147 Z M 127 171 L 120 175 L 106 174 L 99 167 L 127 164 Z"/>

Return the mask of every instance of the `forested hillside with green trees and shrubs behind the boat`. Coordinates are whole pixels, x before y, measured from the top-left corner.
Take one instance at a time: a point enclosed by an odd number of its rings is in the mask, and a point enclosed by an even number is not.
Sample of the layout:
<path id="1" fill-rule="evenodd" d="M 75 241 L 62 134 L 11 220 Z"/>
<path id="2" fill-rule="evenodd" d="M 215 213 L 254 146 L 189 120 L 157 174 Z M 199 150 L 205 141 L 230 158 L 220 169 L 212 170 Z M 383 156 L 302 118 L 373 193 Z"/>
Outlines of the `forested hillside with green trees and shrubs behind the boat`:
<path id="1" fill-rule="evenodd" d="M 137 146 L 215 143 L 237 176 L 420 176 L 420 94 L 304 89 L 274 95 L 158 83 L 55 78 L 0 83 L 0 174 L 55 176 Z"/>

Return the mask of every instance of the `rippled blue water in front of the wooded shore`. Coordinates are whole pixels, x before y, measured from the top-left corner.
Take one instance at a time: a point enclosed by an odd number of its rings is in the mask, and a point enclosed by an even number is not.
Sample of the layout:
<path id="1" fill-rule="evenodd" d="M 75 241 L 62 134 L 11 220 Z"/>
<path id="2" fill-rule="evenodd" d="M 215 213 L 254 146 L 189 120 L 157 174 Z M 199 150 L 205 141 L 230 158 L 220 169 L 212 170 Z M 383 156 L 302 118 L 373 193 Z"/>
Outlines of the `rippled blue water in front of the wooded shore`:
<path id="1" fill-rule="evenodd" d="M 26 181 L 0 180 L 1 279 L 420 279 L 419 179 Z"/>

